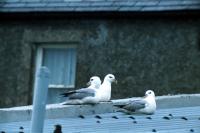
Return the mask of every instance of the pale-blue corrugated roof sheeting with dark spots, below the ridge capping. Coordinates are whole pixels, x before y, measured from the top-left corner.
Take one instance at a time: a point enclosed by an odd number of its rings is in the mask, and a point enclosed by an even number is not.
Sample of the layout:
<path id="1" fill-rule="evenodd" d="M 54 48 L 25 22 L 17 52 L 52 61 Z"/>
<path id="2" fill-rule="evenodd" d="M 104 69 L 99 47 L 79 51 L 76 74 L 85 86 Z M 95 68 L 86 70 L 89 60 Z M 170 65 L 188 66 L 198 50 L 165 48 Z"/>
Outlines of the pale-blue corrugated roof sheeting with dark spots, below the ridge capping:
<path id="1" fill-rule="evenodd" d="M 52 133 L 56 124 L 62 125 L 64 133 L 200 132 L 200 106 L 158 109 L 154 115 L 125 115 L 121 112 L 98 114 L 98 118 L 96 115 L 46 119 L 44 132 Z M 17 133 L 20 126 L 24 127 L 25 132 L 29 132 L 30 121 L 1 123 L 0 131 Z"/>

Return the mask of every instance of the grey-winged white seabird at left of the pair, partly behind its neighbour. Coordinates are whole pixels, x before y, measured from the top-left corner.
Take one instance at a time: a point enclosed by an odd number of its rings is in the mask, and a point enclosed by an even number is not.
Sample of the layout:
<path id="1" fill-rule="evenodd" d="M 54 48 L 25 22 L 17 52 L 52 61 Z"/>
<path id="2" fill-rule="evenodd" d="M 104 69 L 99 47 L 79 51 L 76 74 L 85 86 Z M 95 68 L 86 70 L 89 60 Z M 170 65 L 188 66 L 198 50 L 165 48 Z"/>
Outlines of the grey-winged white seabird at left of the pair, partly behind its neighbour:
<path id="1" fill-rule="evenodd" d="M 81 88 L 78 90 L 69 91 L 63 93 L 64 97 L 68 97 L 66 102 L 61 104 L 95 104 L 99 102 L 97 97 L 98 89 L 101 85 L 101 80 L 98 76 L 93 76 L 88 82 L 90 85 L 87 88 Z"/>

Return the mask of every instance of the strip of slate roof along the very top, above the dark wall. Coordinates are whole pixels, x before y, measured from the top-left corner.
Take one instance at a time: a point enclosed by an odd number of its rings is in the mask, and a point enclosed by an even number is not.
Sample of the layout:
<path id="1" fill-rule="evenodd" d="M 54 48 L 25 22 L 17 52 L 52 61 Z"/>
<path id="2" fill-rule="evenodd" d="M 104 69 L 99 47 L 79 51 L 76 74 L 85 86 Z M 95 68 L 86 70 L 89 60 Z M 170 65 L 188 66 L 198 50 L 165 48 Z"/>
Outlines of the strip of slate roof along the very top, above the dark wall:
<path id="1" fill-rule="evenodd" d="M 1 0 L 0 12 L 151 12 L 200 10 L 199 0 Z"/>

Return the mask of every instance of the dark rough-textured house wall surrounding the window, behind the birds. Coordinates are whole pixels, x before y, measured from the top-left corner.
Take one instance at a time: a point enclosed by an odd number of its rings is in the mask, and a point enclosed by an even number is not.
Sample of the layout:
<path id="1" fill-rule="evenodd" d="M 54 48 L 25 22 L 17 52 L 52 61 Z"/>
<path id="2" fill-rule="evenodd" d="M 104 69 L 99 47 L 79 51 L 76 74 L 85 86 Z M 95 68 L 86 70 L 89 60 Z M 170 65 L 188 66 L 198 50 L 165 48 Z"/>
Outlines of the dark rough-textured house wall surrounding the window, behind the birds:
<path id="1" fill-rule="evenodd" d="M 31 104 L 37 45 L 77 45 L 76 88 L 113 73 L 112 98 L 200 92 L 200 19 L 0 22 L 0 107 Z"/>

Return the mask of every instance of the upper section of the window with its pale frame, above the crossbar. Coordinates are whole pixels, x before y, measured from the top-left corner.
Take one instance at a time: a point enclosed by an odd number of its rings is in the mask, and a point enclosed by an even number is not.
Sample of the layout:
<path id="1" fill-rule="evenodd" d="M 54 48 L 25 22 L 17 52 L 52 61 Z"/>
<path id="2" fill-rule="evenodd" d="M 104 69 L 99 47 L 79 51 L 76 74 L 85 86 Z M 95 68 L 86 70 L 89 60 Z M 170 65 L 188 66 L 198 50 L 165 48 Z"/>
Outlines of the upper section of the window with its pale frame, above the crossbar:
<path id="1" fill-rule="evenodd" d="M 69 45 L 40 45 L 36 69 L 46 66 L 50 70 L 50 88 L 75 86 L 76 48 Z"/>

